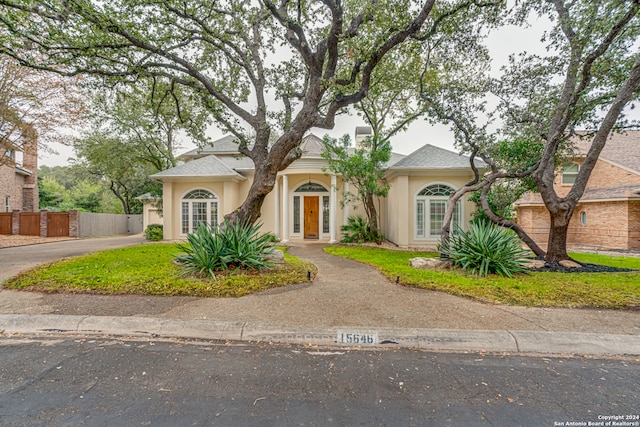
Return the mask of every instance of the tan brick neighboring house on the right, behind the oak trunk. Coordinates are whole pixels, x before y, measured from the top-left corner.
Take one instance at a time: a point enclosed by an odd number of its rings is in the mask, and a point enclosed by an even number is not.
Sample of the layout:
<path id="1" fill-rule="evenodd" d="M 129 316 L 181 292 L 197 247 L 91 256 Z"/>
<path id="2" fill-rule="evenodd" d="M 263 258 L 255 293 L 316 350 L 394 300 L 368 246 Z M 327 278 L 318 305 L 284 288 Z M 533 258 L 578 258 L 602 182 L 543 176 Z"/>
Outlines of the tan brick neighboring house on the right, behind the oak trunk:
<path id="1" fill-rule="evenodd" d="M 582 166 L 590 141 L 576 143 L 577 155 L 556 176 L 556 192 L 564 196 Z M 518 223 L 538 244 L 548 242 L 549 212 L 539 194 L 517 203 Z M 576 206 L 567 235 L 569 246 L 621 250 L 640 249 L 640 131 L 612 134 Z"/>

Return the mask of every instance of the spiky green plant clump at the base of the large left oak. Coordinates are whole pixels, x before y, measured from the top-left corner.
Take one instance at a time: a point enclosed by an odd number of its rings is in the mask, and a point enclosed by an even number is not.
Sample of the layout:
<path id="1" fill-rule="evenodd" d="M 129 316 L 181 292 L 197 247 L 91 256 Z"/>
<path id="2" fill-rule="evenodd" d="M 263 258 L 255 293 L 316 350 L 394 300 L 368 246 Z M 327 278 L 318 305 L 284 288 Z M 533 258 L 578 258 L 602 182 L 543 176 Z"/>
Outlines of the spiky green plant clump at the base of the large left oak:
<path id="1" fill-rule="evenodd" d="M 187 244 L 178 245 L 184 255 L 176 257 L 185 275 L 210 276 L 216 272 L 243 270 L 262 271 L 273 267 L 268 260 L 275 251 L 268 234 L 260 234 L 260 224 L 232 223 L 221 225 L 201 222 L 187 235 Z"/>

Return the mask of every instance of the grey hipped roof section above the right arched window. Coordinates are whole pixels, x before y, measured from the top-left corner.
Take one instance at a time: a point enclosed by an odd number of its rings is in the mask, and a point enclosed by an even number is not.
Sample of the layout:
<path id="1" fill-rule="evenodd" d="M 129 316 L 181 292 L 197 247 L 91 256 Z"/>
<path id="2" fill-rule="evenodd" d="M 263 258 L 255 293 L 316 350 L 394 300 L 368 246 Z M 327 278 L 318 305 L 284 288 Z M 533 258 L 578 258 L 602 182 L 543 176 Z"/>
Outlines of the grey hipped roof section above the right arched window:
<path id="1" fill-rule="evenodd" d="M 482 160 L 476 159 L 478 167 L 484 167 Z M 399 160 L 389 170 L 400 169 L 468 169 L 469 157 L 444 148 L 426 144 Z"/>

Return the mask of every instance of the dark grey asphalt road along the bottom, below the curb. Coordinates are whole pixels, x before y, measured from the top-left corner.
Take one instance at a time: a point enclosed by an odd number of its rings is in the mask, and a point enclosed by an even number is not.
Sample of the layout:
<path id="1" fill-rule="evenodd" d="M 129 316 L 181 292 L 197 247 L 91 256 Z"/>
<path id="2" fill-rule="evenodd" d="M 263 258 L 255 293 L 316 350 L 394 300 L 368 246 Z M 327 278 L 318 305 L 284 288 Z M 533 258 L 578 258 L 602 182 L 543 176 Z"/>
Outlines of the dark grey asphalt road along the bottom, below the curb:
<path id="1" fill-rule="evenodd" d="M 82 336 L 0 354 L 3 426 L 640 425 L 632 358 Z"/>

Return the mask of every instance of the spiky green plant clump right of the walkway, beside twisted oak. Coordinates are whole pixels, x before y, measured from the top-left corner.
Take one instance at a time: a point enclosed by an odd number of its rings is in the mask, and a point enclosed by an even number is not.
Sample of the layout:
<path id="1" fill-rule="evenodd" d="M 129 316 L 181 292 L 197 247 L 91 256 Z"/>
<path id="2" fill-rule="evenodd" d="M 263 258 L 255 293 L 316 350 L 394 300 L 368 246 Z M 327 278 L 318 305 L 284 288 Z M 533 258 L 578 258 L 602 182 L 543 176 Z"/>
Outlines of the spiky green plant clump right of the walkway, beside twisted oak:
<path id="1" fill-rule="evenodd" d="M 530 257 L 512 230 L 486 222 L 471 223 L 466 232 L 456 230 L 448 244 L 438 249 L 455 265 L 480 276 L 496 273 L 513 277 L 525 273 Z"/>

